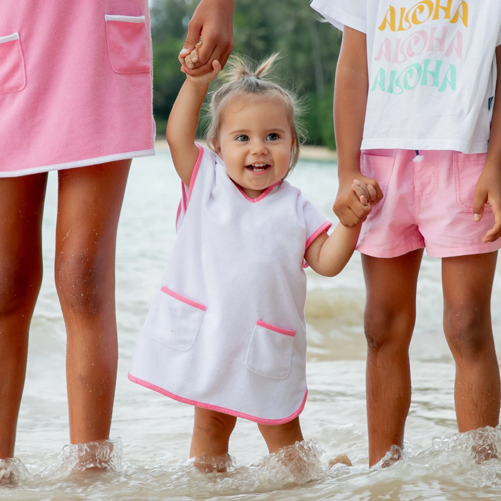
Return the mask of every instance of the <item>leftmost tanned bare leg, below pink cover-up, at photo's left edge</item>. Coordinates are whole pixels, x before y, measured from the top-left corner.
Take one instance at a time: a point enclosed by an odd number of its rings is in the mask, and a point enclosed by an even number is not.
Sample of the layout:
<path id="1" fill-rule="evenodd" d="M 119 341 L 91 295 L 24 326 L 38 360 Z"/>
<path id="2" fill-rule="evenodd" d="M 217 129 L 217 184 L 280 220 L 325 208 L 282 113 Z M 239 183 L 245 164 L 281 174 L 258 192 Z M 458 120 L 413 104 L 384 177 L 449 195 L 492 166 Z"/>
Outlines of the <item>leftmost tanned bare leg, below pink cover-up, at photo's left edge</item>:
<path id="1" fill-rule="evenodd" d="M 14 455 L 28 331 L 42 283 L 47 174 L 0 179 L 0 459 Z"/>

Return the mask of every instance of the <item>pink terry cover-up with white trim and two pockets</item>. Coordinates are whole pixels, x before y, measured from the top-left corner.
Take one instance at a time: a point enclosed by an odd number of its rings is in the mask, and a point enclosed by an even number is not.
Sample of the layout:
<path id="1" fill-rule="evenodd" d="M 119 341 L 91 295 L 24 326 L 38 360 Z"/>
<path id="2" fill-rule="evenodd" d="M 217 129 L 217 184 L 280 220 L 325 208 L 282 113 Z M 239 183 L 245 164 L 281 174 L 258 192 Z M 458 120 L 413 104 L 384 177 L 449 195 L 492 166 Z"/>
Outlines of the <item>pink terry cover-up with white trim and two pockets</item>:
<path id="1" fill-rule="evenodd" d="M 0 177 L 154 154 L 147 0 L 2 0 Z"/>

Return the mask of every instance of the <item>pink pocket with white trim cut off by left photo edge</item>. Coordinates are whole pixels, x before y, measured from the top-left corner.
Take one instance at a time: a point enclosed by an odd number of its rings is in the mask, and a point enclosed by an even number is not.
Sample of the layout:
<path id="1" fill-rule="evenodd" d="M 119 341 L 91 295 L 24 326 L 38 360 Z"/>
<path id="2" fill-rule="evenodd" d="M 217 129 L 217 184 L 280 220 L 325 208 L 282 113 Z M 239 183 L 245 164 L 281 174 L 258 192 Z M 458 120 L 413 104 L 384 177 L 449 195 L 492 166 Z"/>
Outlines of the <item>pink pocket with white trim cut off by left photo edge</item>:
<path id="1" fill-rule="evenodd" d="M 0 37 L 0 94 L 26 87 L 25 60 L 19 33 Z"/>

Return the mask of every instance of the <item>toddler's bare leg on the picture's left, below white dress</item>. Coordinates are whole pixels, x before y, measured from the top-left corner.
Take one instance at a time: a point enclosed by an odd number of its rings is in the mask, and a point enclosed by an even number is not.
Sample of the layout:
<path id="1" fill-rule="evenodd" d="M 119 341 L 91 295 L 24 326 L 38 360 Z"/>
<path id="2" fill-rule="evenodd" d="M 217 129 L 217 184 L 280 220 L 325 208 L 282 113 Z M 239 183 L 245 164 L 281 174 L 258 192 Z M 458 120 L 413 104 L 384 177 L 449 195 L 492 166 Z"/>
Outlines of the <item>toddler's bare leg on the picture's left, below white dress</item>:
<path id="1" fill-rule="evenodd" d="M 205 473 L 214 470 L 225 471 L 229 437 L 235 423 L 236 417 L 234 416 L 195 407 L 189 456 L 197 458 L 195 466 L 199 470 Z"/>

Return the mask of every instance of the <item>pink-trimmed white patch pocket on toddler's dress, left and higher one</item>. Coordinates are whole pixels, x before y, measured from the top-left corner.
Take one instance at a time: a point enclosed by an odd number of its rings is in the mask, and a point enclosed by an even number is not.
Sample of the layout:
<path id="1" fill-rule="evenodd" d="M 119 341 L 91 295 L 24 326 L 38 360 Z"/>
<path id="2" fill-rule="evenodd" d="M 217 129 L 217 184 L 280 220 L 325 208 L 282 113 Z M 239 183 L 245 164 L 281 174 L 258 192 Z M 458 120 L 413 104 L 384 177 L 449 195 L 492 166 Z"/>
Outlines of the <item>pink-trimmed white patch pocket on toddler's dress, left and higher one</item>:
<path id="1" fill-rule="evenodd" d="M 153 300 L 144 329 L 151 339 L 179 351 L 188 351 L 195 342 L 206 309 L 162 287 Z"/>

